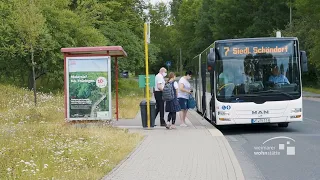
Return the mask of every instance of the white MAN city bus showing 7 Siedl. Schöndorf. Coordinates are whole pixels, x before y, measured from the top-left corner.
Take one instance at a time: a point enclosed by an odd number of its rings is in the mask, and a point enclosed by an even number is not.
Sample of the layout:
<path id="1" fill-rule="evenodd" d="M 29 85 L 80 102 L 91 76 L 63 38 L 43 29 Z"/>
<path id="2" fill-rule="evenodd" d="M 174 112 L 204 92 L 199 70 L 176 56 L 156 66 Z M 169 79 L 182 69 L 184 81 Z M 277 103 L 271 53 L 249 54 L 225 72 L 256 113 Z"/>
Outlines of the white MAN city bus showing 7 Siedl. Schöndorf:
<path id="1" fill-rule="evenodd" d="M 308 71 L 296 37 L 217 40 L 188 64 L 196 110 L 215 125 L 301 122 L 301 74 Z"/>

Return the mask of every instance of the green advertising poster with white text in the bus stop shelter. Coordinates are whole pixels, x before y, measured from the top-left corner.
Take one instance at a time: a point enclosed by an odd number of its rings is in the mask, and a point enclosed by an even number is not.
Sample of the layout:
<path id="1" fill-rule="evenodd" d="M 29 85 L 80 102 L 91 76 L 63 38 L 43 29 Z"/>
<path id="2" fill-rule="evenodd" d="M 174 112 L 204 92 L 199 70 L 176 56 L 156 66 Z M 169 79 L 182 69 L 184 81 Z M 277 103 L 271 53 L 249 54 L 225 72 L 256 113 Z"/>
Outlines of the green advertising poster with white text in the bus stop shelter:
<path id="1" fill-rule="evenodd" d="M 110 57 L 67 58 L 69 120 L 111 120 Z"/>

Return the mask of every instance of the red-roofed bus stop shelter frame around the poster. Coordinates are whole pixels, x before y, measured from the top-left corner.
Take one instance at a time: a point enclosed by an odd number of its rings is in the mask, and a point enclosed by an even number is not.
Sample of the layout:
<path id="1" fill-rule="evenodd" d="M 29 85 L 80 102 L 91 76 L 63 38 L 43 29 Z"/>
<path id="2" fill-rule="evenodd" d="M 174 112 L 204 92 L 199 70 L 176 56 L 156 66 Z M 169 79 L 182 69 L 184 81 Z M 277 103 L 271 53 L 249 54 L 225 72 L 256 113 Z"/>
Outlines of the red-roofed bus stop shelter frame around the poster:
<path id="1" fill-rule="evenodd" d="M 93 57 L 110 57 L 114 58 L 115 60 L 115 80 L 116 80 L 116 119 L 119 119 L 119 103 L 118 103 L 118 58 L 119 57 L 127 57 L 127 53 L 121 46 L 100 46 L 100 47 L 74 47 L 74 48 L 62 48 L 61 52 L 64 54 L 64 91 L 65 91 L 65 118 L 68 118 L 68 109 L 67 102 L 69 101 L 67 94 L 69 89 L 67 89 L 69 83 L 69 74 L 67 73 L 68 62 L 67 59 L 69 58 L 93 58 Z M 111 64 L 110 64 L 111 66 Z M 101 67 L 100 67 L 101 68 Z M 110 67 L 109 67 L 110 68 Z M 69 72 L 69 71 L 68 71 Z M 109 72 L 111 73 L 111 71 Z M 111 80 L 111 77 L 110 77 Z M 97 80 L 98 82 L 98 80 Z M 110 82 L 111 83 L 111 82 Z M 68 92 L 67 92 L 68 91 Z M 110 87 L 111 91 L 111 87 Z M 111 98 L 111 97 L 109 97 Z M 112 106 L 109 108 L 112 109 Z M 111 111 L 112 112 L 112 111 Z M 112 118 L 112 114 L 110 115 Z M 85 120 L 85 119 L 84 119 Z"/>

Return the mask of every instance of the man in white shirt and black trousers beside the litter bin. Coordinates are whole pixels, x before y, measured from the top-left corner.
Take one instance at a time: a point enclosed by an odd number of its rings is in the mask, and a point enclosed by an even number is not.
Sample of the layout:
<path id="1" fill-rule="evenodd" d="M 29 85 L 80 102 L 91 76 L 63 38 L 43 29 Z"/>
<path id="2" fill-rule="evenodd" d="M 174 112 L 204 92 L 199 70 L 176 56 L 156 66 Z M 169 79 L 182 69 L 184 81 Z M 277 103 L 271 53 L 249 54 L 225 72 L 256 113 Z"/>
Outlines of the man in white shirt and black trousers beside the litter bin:
<path id="1" fill-rule="evenodd" d="M 161 126 L 166 126 L 166 122 L 164 120 L 164 101 L 162 100 L 162 91 L 165 85 L 164 77 L 167 75 L 166 68 L 162 67 L 159 70 L 159 73 L 156 75 L 155 78 L 155 92 L 154 97 L 156 99 L 156 117 L 158 116 L 158 113 L 160 112 L 160 124 Z"/>

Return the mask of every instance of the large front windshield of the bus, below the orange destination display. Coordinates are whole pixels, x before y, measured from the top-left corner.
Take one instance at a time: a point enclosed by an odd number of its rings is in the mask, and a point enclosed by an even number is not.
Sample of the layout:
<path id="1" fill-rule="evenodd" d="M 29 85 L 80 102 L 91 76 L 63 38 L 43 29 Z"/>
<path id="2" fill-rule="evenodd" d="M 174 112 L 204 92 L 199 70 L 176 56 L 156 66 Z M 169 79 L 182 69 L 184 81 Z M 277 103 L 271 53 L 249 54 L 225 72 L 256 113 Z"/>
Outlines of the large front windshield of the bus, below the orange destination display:
<path id="1" fill-rule="evenodd" d="M 216 97 L 221 102 L 293 100 L 301 97 L 298 58 L 255 54 L 220 58 L 216 63 Z"/>

